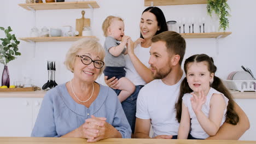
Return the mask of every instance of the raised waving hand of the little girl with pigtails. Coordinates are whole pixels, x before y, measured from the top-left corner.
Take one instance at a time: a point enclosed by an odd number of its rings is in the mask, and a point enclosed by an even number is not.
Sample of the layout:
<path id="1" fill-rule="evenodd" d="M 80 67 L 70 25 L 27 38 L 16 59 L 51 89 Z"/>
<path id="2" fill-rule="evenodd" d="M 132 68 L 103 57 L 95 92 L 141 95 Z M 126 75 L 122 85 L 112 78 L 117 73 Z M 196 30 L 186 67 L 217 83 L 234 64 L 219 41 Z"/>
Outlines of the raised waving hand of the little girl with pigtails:
<path id="1" fill-rule="evenodd" d="M 191 97 L 190 99 L 192 109 L 194 110 L 195 113 L 200 112 L 202 110 L 202 105 L 205 104 L 206 95 L 203 93 L 203 91 L 200 91 L 198 96 L 194 93 L 190 94 L 193 95 L 193 97 Z"/>

